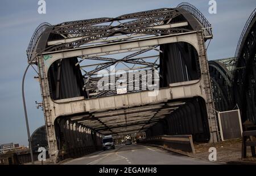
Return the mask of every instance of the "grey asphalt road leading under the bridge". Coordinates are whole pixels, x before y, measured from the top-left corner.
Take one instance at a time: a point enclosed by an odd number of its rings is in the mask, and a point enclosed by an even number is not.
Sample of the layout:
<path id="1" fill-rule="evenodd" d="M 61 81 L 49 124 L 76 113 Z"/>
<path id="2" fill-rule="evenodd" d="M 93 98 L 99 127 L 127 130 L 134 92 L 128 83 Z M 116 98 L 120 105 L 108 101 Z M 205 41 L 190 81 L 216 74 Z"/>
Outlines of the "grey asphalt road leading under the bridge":
<path id="1" fill-rule="evenodd" d="M 162 165 L 185 164 L 205 165 L 220 164 L 207 160 L 199 160 L 166 151 L 162 148 L 145 145 L 119 145 L 115 149 L 89 154 L 64 162 L 67 165 Z"/>

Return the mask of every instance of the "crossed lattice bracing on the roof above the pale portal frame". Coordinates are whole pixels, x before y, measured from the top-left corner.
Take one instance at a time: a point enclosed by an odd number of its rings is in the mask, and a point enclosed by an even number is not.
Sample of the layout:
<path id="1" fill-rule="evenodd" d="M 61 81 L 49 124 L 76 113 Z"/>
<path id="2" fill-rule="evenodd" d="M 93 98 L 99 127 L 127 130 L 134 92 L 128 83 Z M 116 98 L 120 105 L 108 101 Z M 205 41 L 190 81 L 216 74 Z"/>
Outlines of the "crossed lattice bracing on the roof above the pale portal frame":
<path id="1" fill-rule="evenodd" d="M 71 23 L 56 25 L 52 33 L 65 36 L 65 38 L 82 37 L 78 40 L 56 45 L 47 51 L 59 51 L 65 49 L 79 48 L 88 42 L 108 38 L 115 35 L 170 35 L 189 32 L 187 28 L 166 28 L 163 24 L 180 15 L 171 8 L 162 8 L 146 12 L 122 15 L 117 18 L 102 18 L 81 20 Z M 129 22 L 121 22 L 130 20 Z M 109 23 L 109 25 L 101 25 Z M 97 25 L 96 25 L 97 24 Z M 124 39 L 121 39 L 124 40 Z M 126 38 L 127 40 L 127 38 Z M 117 41 L 117 40 L 115 40 Z M 113 42 L 113 41 L 109 41 Z"/>

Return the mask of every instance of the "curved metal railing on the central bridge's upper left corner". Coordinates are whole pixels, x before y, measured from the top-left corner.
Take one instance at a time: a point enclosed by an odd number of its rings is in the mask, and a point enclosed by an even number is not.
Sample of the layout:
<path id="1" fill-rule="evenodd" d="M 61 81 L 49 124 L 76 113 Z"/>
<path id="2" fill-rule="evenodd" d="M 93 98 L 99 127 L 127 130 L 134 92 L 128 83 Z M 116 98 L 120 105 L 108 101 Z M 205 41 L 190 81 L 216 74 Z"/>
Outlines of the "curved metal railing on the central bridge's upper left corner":
<path id="1" fill-rule="evenodd" d="M 35 49 L 36 42 L 38 42 L 39 37 L 42 35 L 42 33 L 46 30 L 47 27 L 51 26 L 49 23 L 41 23 L 39 26 L 35 29 L 35 32 L 33 33 L 30 43 L 28 44 L 26 53 L 27 53 L 27 60 L 30 62 L 33 51 Z"/>

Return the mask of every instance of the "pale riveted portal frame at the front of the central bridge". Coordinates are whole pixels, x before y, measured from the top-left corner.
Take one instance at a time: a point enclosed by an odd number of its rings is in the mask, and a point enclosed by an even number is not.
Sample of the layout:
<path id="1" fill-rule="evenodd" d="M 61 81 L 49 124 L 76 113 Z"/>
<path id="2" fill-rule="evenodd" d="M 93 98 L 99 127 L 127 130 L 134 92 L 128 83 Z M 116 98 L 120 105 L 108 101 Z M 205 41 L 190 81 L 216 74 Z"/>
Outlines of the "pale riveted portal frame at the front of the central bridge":
<path id="1" fill-rule="evenodd" d="M 210 85 L 209 68 L 204 44 L 204 31 L 184 32 L 176 35 L 165 35 L 158 37 L 142 38 L 139 40 L 123 41 L 113 44 L 87 46 L 78 49 L 67 49 L 62 51 L 46 52 L 36 59 L 39 69 L 40 87 L 43 97 L 44 117 L 47 125 L 49 154 L 51 160 L 56 161 L 57 143 L 55 134 L 55 119 L 60 116 L 74 115 L 81 113 L 93 113 L 119 108 L 140 107 L 146 104 L 157 104 L 176 100 L 180 98 L 202 97 L 207 105 L 208 123 L 210 131 L 210 142 L 218 140 L 216 114 L 214 113 L 213 96 Z M 167 88 L 159 89 L 158 95 L 148 96 L 153 91 L 129 93 L 125 95 L 114 95 L 86 100 L 85 97 L 67 98 L 53 101 L 49 93 L 47 73 L 49 66 L 58 59 L 65 59 L 78 56 L 101 56 L 107 54 L 123 53 L 152 48 L 155 45 L 162 45 L 175 42 L 187 42 L 191 44 L 199 55 L 201 76 L 199 80 L 192 80 L 181 83 L 170 84 Z M 50 55 L 50 57 L 49 57 Z M 46 59 L 51 58 L 51 59 Z"/>

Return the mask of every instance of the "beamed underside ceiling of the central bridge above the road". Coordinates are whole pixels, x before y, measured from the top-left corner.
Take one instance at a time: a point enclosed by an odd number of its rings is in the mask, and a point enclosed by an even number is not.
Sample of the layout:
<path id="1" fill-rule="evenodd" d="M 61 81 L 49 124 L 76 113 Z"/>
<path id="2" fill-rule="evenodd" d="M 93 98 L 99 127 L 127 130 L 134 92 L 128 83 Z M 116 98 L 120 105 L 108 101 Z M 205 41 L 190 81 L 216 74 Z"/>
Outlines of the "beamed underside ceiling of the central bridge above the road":
<path id="1" fill-rule="evenodd" d="M 91 112 L 84 115 L 67 117 L 71 122 L 77 122 L 103 135 L 125 135 L 146 131 L 167 115 L 170 115 L 184 101 L 162 102 L 125 109 Z"/>

